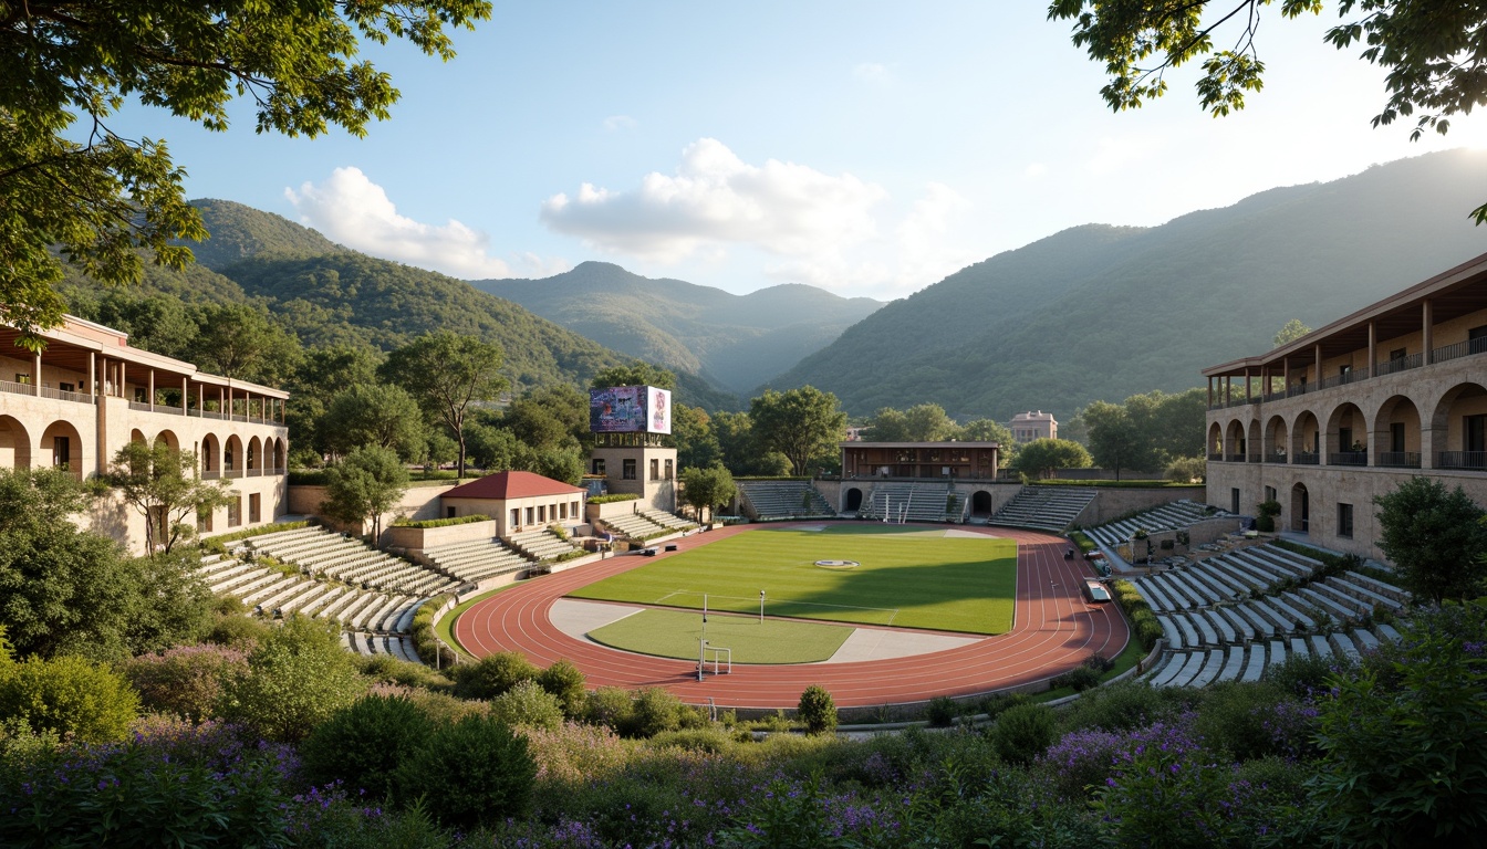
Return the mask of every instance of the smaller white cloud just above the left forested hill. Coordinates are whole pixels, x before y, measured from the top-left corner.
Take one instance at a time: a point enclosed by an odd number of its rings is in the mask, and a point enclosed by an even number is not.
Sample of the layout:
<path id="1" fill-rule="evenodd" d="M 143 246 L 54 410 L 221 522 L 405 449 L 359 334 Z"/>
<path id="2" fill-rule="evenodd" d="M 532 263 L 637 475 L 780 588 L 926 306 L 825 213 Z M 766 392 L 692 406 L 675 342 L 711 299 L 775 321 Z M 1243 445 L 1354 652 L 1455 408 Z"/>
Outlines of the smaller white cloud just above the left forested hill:
<path id="1" fill-rule="evenodd" d="M 437 226 L 397 214 L 387 192 L 360 168 L 336 168 L 320 184 L 305 181 L 299 192 L 284 189 L 284 196 L 302 223 L 348 248 L 465 280 L 515 275 L 510 263 L 488 253 L 491 236 L 455 219 Z M 534 275 L 568 268 L 564 260 L 531 254 L 519 257 L 516 265 L 522 274 Z"/>

